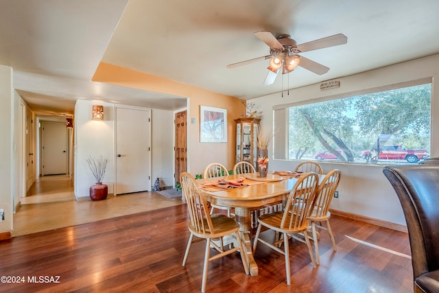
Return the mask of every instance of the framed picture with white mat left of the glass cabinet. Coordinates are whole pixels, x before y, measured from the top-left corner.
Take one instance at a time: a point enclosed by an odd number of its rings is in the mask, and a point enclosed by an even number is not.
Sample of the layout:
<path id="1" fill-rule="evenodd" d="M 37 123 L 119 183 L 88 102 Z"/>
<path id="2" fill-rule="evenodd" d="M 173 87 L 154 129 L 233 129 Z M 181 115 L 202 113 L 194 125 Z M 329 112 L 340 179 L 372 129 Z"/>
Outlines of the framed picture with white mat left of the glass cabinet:
<path id="1" fill-rule="evenodd" d="M 227 109 L 200 106 L 200 142 L 227 142 Z"/>

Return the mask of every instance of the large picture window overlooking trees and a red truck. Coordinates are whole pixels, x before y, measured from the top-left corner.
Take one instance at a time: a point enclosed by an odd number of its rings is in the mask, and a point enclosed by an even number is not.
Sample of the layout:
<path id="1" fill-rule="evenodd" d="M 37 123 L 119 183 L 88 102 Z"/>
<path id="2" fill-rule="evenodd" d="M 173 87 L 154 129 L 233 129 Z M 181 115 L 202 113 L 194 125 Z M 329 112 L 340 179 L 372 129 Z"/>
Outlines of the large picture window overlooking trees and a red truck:
<path id="1" fill-rule="evenodd" d="M 429 156 L 431 83 L 288 106 L 274 110 L 275 159 L 397 164 Z"/>

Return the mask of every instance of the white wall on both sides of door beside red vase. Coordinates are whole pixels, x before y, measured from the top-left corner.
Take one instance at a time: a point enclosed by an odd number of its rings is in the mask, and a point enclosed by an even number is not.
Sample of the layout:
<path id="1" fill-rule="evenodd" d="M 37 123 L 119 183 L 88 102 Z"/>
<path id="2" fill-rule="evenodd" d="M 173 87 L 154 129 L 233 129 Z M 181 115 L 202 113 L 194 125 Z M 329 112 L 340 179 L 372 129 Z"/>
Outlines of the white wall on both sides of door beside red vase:
<path id="1" fill-rule="evenodd" d="M 104 121 L 91 120 L 93 104 L 104 105 Z M 153 185 L 158 177 L 171 186 L 174 184 L 174 114 L 152 109 L 151 124 L 151 182 Z M 76 198 L 88 198 L 88 189 L 95 183 L 86 163 L 90 155 L 108 155 L 104 183 L 108 185 L 108 193 L 114 193 L 115 143 L 115 104 L 78 100 L 74 143 Z"/>

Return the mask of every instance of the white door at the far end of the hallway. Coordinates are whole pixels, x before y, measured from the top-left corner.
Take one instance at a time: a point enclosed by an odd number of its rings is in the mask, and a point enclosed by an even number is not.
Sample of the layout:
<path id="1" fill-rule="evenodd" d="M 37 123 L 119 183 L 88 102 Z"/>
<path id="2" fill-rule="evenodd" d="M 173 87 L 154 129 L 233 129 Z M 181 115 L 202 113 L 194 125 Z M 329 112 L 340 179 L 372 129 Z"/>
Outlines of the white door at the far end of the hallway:
<path id="1" fill-rule="evenodd" d="M 43 175 L 67 174 L 66 124 L 43 122 L 41 126 Z"/>

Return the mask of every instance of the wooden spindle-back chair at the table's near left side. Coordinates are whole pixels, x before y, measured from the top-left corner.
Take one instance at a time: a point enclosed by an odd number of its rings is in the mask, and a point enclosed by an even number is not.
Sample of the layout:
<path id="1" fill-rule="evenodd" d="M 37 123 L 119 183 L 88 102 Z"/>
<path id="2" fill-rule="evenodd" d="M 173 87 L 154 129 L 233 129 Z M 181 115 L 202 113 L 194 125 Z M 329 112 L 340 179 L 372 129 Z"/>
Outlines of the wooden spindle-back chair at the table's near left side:
<path id="1" fill-rule="evenodd" d="M 207 281 L 207 271 L 209 269 L 209 261 L 219 259 L 230 253 L 234 253 L 239 250 L 241 254 L 241 261 L 244 265 L 244 271 L 249 274 L 248 265 L 246 263 L 246 258 L 244 256 L 244 249 L 242 247 L 241 237 L 239 235 L 239 224 L 235 220 L 228 218 L 226 215 L 215 214 L 211 217 L 208 212 L 207 203 L 204 199 L 200 187 L 195 183 L 195 178 L 187 172 L 183 172 L 180 175 L 180 183 L 182 186 L 182 194 L 186 198 L 187 209 L 189 210 L 189 241 L 187 243 L 187 248 L 185 252 L 185 257 L 183 259 L 182 266 L 186 266 L 187 257 L 189 255 L 189 250 L 191 250 L 191 244 L 194 242 L 199 242 L 206 240 L 206 251 L 204 253 L 204 268 L 201 292 L 206 291 L 206 281 Z M 219 247 L 215 242 L 211 241 L 213 238 L 222 238 L 226 235 L 235 235 L 237 239 L 238 247 L 233 247 L 228 250 L 224 250 L 224 247 Z M 193 237 L 197 239 L 193 239 Z M 219 252 L 213 256 L 211 253 L 211 245 L 216 248 Z"/>

